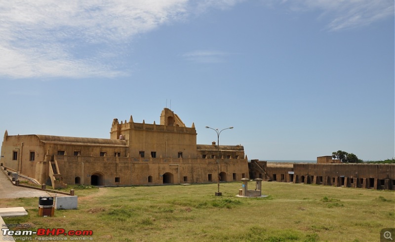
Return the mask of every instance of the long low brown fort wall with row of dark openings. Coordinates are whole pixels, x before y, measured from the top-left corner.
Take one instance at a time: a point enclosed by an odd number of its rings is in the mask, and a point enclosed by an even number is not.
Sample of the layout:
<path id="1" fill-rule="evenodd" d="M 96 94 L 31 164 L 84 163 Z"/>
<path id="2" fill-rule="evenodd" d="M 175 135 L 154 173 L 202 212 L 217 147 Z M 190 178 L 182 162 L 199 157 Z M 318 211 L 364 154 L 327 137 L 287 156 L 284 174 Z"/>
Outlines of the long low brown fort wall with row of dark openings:
<path id="1" fill-rule="evenodd" d="M 251 160 L 249 177 L 266 181 L 395 190 L 395 164 L 344 164 L 332 156 L 317 163 L 268 163 Z"/>

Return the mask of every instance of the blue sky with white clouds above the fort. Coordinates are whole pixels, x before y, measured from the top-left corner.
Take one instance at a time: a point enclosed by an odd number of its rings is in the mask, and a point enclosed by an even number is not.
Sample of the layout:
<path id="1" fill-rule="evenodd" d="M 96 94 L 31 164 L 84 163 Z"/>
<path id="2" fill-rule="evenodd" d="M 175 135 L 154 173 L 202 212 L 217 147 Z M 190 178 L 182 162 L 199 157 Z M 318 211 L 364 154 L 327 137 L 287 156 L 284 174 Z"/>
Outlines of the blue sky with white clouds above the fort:
<path id="1" fill-rule="evenodd" d="M 395 157 L 394 0 L 2 0 L 0 131 L 159 124 L 248 159 Z"/>

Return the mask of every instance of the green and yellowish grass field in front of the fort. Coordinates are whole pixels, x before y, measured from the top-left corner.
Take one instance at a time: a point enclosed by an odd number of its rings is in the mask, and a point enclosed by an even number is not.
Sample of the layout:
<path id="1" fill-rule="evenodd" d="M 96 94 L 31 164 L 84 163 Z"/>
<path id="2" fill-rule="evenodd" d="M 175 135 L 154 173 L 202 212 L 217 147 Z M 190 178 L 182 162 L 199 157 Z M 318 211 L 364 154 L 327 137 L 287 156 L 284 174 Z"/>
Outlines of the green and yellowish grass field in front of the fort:
<path id="1" fill-rule="evenodd" d="M 250 182 L 249 187 L 255 187 Z M 33 229 L 93 230 L 93 241 L 380 241 L 395 227 L 395 192 L 263 182 L 267 198 L 237 198 L 241 182 L 76 188 L 78 209 L 38 216 L 38 198 L 1 199 Z M 69 238 L 71 239 L 71 238 Z"/>

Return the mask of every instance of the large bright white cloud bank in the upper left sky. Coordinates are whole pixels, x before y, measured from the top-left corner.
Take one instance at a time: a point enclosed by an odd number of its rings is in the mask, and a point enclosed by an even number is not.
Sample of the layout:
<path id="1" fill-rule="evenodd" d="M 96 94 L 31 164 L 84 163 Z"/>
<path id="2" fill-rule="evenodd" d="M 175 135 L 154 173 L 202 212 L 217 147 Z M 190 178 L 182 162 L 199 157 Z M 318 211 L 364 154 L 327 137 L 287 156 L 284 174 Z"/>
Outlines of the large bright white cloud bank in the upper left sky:
<path id="1" fill-rule="evenodd" d="M 117 59 L 111 53 L 135 35 L 183 18 L 186 3 L 187 0 L 0 1 L 0 76 L 125 75 L 111 64 Z"/>

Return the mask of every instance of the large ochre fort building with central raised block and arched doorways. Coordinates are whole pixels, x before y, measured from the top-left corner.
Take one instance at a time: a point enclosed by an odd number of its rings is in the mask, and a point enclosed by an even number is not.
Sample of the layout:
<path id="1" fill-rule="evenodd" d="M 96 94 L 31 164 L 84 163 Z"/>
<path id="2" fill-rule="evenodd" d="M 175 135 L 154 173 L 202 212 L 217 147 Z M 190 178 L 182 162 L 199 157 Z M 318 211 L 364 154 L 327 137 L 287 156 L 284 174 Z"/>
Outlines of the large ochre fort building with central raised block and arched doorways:
<path id="1" fill-rule="evenodd" d="M 114 119 L 110 138 L 9 136 L 0 163 L 54 188 L 67 184 L 120 186 L 206 183 L 248 178 L 242 145 L 197 144 L 187 127 L 164 108 L 160 124 Z M 219 173 L 219 176 L 218 176 Z"/>

